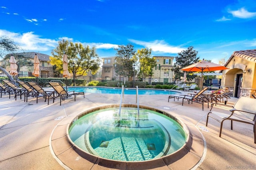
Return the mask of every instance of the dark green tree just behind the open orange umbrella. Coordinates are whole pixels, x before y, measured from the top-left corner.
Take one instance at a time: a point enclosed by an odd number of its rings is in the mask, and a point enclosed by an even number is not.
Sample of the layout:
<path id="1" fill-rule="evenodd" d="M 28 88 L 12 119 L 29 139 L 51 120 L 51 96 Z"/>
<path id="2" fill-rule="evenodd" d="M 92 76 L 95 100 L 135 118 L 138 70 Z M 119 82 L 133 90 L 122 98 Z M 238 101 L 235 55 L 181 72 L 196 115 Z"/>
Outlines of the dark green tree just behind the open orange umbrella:
<path id="1" fill-rule="evenodd" d="M 184 72 L 181 70 L 182 68 L 199 61 L 200 57 L 196 56 L 198 51 L 194 50 L 193 48 L 193 46 L 190 46 L 187 50 L 181 51 L 178 53 L 178 56 L 175 57 L 176 62 L 172 68 L 172 71 L 174 71 L 175 79 L 180 79 L 180 77 L 184 76 Z M 187 79 L 194 79 L 196 75 L 190 73 L 192 72 L 187 72 Z"/>

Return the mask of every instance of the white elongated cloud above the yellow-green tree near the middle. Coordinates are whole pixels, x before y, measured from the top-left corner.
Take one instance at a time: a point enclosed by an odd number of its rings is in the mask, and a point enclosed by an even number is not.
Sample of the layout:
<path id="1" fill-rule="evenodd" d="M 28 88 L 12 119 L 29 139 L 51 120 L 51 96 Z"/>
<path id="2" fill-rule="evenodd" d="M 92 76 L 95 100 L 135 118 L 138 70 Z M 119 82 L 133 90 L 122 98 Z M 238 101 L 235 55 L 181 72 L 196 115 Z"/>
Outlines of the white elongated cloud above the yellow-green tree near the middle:
<path id="1" fill-rule="evenodd" d="M 129 39 L 130 42 L 136 43 L 138 45 L 142 45 L 144 47 L 151 48 L 154 52 L 163 52 L 163 53 L 179 53 L 182 50 L 185 50 L 181 47 L 175 47 L 172 45 L 169 45 L 164 40 L 155 40 L 153 42 L 143 42 L 139 40 L 132 40 Z"/>

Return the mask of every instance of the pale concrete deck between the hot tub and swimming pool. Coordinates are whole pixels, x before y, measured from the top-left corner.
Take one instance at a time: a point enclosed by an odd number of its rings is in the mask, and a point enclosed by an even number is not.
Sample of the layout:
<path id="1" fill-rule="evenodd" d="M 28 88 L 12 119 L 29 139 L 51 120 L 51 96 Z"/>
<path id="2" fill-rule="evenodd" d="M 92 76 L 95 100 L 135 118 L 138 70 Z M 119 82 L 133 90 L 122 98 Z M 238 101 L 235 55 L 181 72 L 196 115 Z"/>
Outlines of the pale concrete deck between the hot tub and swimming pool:
<path id="1" fill-rule="evenodd" d="M 59 100 L 50 105 L 44 99 L 29 97 L 24 102 L 14 95 L 0 98 L 0 169 L 114 169 L 98 164 L 82 164 L 83 159 L 79 155 L 66 154 L 60 159 L 60 153 L 52 150 L 55 146 L 66 146 L 65 143 L 52 144 L 54 140 L 61 138 L 65 133 L 56 129 L 66 125 L 68 117 L 86 109 L 107 104 L 118 104 L 120 95 L 86 93 L 85 99 L 78 96 L 76 101 L 68 99 Z M 233 104 L 237 99 L 231 97 L 228 104 Z M 124 103 L 136 103 L 135 95 L 125 95 Z M 165 165 L 140 167 L 138 169 L 256 169 L 256 144 L 254 144 L 253 127 L 244 123 L 234 122 L 233 130 L 230 130 L 230 121 L 224 122 L 222 138 L 218 137 L 220 124 L 209 120 L 205 127 L 206 114 L 210 109 L 204 105 L 188 102 L 182 106 L 182 99 L 168 102 L 168 95 L 140 95 L 140 105 L 154 107 L 179 117 L 192 129 L 194 146 L 188 154 L 182 157 L 185 161 L 165 160 Z M 58 125 L 58 126 L 57 126 Z M 190 130 L 191 130 L 190 129 Z M 203 135 L 206 142 L 200 140 Z M 55 136 L 54 136 L 55 135 Z M 59 136 L 58 136 L 59 135 Z M 65 134 L 64 134 L 65 135 Z M 198 136 L 197 136 L 198 135 Z M 53 138 L 52 138 L 53 137 Z M 66 150 L 64 148 L 64 150 Z M 60 150 L 60 152 L 63 152 Z M 69 151 L 68 151 L 69 152 Z M 203 153 L 201 153 L 203 152 Z M 57 155 L 57 156 L 56 156 Z M 70 161 L 73 158 L 73 162 Z M 62 163 L 63 160 L 69 163 Z M 71 158 L 72 159 L 72 158 Z M 61 161 L 60 161 L 61 160 Z M 117 169 L 118 167 L 116 167 Z"/>

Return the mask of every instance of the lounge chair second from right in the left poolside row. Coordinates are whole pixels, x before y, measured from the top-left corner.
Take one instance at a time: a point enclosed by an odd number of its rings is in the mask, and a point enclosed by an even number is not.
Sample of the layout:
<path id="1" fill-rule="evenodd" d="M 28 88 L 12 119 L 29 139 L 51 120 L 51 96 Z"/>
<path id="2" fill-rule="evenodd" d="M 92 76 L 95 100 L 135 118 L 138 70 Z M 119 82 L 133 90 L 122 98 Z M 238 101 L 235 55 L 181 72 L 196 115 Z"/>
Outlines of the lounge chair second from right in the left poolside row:
<path id="1" fill-rule="evenodd" d="M 38 85 L 38 83 L 34 81 L 30 81 L 27 83 L 35 91 L 34 96 L 36 97 L 36 103 L 38 103 L 39 95 L 42 95 L 42 97 L 45 99 L 44 102 L 46 102 L 46 99 L 48 99 L 48 105 L 49 105 L 49 99 L 54 97 L 54 90 L 45 91 L 44 89 L 42 89 L 40 85 Z"/>

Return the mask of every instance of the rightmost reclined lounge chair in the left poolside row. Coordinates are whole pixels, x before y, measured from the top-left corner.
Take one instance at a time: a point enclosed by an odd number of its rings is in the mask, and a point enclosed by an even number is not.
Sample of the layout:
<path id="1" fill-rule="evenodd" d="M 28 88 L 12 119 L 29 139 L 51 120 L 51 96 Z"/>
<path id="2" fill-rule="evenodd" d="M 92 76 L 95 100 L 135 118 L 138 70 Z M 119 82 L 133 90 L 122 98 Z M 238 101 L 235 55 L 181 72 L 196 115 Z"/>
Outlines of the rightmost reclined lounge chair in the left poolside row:
<path id="1" fill-rule="evenodd" d="M 60 97 L 60 105 L 61 101 L 65 100 L 67 97 L 74 95 L 74 99 L 76 101 L 76 95 L 84 95 L 84 92 L 76 92 L 76 91 L 66 91 L 59 82 L 48 82 L 52 88 L 58 93 L 56 97 Z M 56 98 L 54 97 L 54 99 Z M 53 99 L 53 103 L 54 103 Z"/>

